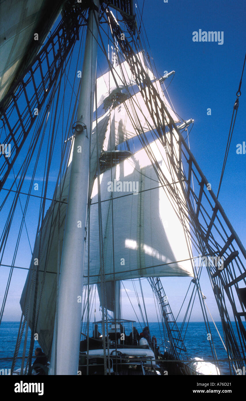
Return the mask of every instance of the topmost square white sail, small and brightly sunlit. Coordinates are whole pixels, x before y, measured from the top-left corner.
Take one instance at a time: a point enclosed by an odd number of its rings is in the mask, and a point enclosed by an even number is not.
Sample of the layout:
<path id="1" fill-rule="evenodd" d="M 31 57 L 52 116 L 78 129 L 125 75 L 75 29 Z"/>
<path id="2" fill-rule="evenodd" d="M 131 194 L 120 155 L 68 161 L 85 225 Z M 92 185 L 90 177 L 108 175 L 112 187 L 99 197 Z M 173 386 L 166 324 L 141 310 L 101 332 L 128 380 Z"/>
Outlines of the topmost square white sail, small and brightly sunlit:
<path id="1" fill-rule="evenodd" d="M 155 79 L 152 71 L 148 67 L 145 67 L 146 63 L 143 59 L 143 53 L 138 53 L 136 57 L 139 59 L 151 81 Z M 118 87 L 122 89 L 130 85 L 135 85 L 135 80 L 127 61 L 124 61 L 117 65 L 117 67 L 113 68 L 113 74 L 111 71 L 108 71 L 97 79 L 97 107 L 99 107 L 111 93 L 115 90 L 118 91 Z M 94 111 L 95 109 L 96 107 L 94 103 Z"/>

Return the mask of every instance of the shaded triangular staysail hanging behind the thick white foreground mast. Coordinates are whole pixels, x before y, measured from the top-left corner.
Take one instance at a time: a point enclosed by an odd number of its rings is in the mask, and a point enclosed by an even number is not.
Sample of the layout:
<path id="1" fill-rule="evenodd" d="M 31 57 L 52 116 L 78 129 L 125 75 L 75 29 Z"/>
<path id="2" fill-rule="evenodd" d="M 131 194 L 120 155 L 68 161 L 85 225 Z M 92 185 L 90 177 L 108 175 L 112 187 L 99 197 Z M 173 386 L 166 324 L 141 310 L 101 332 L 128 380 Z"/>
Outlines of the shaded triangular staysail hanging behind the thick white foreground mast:
<path id="1" fill-rule="evenodd" d="M 101 148 L 103 146 L 103 140 L 105 138 L 105 131 L 107 128 L 109 119 L 109 112 L 103 115 L 98 119 L 97 131 L 99 138 L 99 154 L 101 152 Z M 72 144 L 72 152 L 73 152 L 73 144 Z M 38 288 L 37 288 L 37 302 L 39 302 L 39 296 L 42 288 L 42 281 L 44 280 L 43 290 L 42 290 L 42 298 L 40 302 L 40 311 L 38 314 L 38 322 L 37 322 L 37 332 L 39 334 L 39 344 L 42 346 L 43 351 L 49 355 L 50 346 L 52 343 L 53 337 L 53 328 L 54 328 L 54 318 L 56 311 L 56 273 L 57 273 L 57 262 L 58 262 L 58 219 L 59 219 L 59 201 L 60 203 L 60 260 L 62 256 L 63 249 L 63 235 L 65 229 L 65 218 L 66 218 L 66 210 L 67 210 L 67 200 L 69 194 L 69 179 L 71 172 L 71 161 L 72 161 L 72 152 L 68 163 L 68 168 L 65 176 L 62 178 L 62 182 L 60 184 L 61 187 L 61 197 L 60 196 L 60 188 L 58 186 L 57 195 L 55 198 L 55 202 L 52 203 L 50 208 L 48 209 L 46 216 L 44 218 L 44 222 L 42 223 L 42 237 L 40 243 L 40 233 L 36 237 L 33 258 L 38 258 L 38 266 L 40 271 L 46 270 L 44 275 L 43 272 L 39 273 L 38 276 Z M 91 135 L 91 174 L 90 174 L 90 182 L 89 186 L 92 188 L 94 182 L 94 175 L 97 170 L 97 149 L 96 149 L 96 127 L 95 122 L 93 123 L 93 131 Z M 40 253 L 38 250 L 40 249 Z M 33 266 L 33 262 L 30 265 L 30 268 Z M 26 283 L 24 289 L 22 291 L 22 296 L 20 300 L 21 309 L 26 316 L 27 314 L 27 305 L 29 302 L 31 290 L 31 271 L 28 271 L 28 275 L 26 278 Z M 29 304 L 29 326 L 32 324 L 32 310 L 34 304 L 34 293 L 32 292 L 30 304 Z"/>

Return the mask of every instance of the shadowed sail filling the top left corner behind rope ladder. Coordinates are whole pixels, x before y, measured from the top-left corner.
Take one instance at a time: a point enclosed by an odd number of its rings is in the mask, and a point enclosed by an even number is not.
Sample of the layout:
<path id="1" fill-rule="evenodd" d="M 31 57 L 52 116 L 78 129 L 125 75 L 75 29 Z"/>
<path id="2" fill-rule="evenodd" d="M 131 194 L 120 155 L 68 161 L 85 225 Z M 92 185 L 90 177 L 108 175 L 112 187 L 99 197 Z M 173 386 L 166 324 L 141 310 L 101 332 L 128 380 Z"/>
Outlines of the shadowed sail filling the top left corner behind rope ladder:
<path id="1" fill-rule="evenodd" d="M 46 0 L 1 2 L 0 101 L 19 77 L 22 64 L 28 65 L 40 50 L 62 6 L 57 0 L 49 4 Z M 34 32 L 38 32 L 39 41 L 33 40 Z"/>

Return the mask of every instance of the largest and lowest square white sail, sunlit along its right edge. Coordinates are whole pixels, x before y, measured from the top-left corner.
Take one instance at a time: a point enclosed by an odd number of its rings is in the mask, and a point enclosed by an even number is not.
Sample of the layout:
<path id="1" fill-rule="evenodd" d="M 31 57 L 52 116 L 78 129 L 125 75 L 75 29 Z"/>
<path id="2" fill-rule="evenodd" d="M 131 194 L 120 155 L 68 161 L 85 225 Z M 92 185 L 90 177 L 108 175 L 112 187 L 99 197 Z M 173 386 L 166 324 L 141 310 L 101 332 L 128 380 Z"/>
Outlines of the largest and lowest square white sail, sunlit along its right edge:
<path id="1" fill-rule="evenodd" d="M 167 156 L 159 141 L 150 144 L 171 185 Z M 188 221 L 180 221 L 145 149 L 136 152 L 100 176 L 103 251 L 106 281 L 154 276 L 193 276 L 189 260 Z M 111 209 L 113 191 L 113 225 Z M 125 195 L 125 196 L 124 196 Z M 112 230 L 113 228 L 113 230 Z M 113 249 L 113 235 L 114 249 Z M 185 235 L 186 232 L 186 235 Z M 90 283 L 100 282 L 97 184 L 90 209 Z M 188 241 L 189 242 L 189 241 Z M 85 261 L 87 261 L 87 251 Z M 84 275 L 87 277 L 87 266 Z"/>

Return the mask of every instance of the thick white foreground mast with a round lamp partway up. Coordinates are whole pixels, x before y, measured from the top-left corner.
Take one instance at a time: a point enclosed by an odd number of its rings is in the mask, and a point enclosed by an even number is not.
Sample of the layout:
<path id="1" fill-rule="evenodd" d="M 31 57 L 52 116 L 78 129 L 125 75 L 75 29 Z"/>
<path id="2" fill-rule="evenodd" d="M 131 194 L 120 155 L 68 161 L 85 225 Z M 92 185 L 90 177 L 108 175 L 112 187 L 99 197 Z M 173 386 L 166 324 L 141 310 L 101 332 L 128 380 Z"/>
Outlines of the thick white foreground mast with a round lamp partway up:
<path id="1" fill-rule="evenodd" d="M 79 297 L 82 298 L 83 292 L 90 135 L 96 78 L 99 0 L 94 0 L 93 6 L 95 14 L 93 9 L 89 11 L 60 267 L 58 314 L 56 314 L 58 319 L 56 375 L 77 375 L 79 362 L 82 312 L 82 303 Z M 97 18 L 97 21 L 95 18 Z M 52 346 L 51 374 L 54 374 L 54 348 Z"/>

